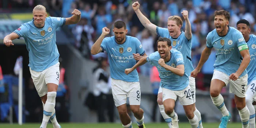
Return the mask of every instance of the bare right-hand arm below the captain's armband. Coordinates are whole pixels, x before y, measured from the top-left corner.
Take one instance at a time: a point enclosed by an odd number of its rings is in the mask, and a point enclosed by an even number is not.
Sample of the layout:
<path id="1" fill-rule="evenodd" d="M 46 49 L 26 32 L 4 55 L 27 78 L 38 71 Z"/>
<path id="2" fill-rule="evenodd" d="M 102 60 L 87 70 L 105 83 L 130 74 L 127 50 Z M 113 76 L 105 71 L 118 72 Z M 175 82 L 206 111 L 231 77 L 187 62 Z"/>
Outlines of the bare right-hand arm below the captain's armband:
<path id="1" fill-rule="evenodd" d="M 247 45 L 244 45 L 244 46 L 247 46 Z M 242 63 L 240 64 L 240 67 L 237 69 L 237 71 L 229 76 L 229 79 L 234 81 L 239 78 L 239 76 L 242 74 L 242 72 L 247 68 L 248 64 L 250 63 L 250 53 L 248 48 L 245 50 L 241 50 L 240 54 L 243 57 Z"/>

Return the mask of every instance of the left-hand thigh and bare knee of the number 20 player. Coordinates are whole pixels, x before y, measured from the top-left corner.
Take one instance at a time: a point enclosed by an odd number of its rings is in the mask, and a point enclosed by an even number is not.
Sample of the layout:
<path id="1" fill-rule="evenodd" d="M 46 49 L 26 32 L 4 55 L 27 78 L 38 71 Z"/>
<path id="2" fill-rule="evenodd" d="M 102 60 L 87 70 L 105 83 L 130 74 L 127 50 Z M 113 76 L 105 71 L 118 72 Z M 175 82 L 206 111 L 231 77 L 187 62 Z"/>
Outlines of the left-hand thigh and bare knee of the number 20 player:
<path id="1" fill-rule="evenodd" d="M 177 95 L 173 90 L 162 88 L 163 106 L 165 109 L 174 109 Z"/>

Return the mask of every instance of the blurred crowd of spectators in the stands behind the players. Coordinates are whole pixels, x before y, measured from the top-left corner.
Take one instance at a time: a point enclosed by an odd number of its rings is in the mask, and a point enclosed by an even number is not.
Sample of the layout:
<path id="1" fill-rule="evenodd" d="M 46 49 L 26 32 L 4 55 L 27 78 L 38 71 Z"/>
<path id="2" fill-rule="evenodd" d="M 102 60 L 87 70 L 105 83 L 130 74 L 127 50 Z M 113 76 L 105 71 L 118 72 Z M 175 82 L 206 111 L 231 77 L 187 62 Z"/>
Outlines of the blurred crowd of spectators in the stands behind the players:
<path id="1" fill-rule="evenodd" d="M 65 0 L 64 0 L 65 1 Z M 214 11 L 227 10 L 230 12 L 229 26 L 236 28 L 240 19 L 246 19 L 251 24 L 251 33 L 256 34 L 256 0 L 138 0 L 142 13 L 155 25 L 167 28 L 167 18 L 171 15 L 178 15 L 182 19 L 182 10 L 188 10 L 189 20 L 192 27 L 192 62 L 196 67 L 200 60 L 202 50 L 206 46 L 207 34 L 215 29 Z M 127 23 L 128 35 L 137 37 L 147 54 L 157 50 L 157 35 L 150 33 L 140 23 L 133 11 L 131 4 L 134 0 L 74 0 L 64 2 L 62 7 L 63 17 L 71 16 L 71 12 L 77 8 L 82 12 L 82 19 L 78 25 L 69 26 L 75 36 L 75 46 L 84 57 L 95 60 L 98 57 L 106 57 L 106 53 L 97 55 L 90 54 L 90 48 L 102 32 L 103 27 L 113 29 L 113 23 L 123 20 Z M 183 19 L 184 20 L 184 19 Z M 185 20 L 182 30 L 185 30 Z M 109 36 L 113 36 L 110 33 Z M 207 66 L 202 68 L 202 74 L 197 77 L 197 88 L 208 90 L 213 64 L 215 61 L 215 50 L 206 62 Z M 210 66 L 209 66 L 210 65 Z M 143 65 L 138 70 L 140 74 L 150 76 L 153 71 L 151 65 Z"/>

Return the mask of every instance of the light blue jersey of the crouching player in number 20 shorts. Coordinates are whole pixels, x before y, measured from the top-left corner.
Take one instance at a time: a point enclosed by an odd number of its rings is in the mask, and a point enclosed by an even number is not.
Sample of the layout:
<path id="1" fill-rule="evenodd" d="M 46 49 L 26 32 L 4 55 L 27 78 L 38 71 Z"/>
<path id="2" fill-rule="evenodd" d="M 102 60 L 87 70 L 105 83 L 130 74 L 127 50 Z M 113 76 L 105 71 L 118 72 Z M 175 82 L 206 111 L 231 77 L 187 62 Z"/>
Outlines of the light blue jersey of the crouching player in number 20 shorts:
<path id="1" fill-rule="evenodd" d="M 170 61 L 165 62 L 165 64 L 167 64 L 171 67 L 174 67 L 174 68 L 178 65 L 184 65 L 183 56 L 182 56 L 181 52 L 179 52 L 177 50 L 170 50 L 170 53 L 171 53 Z M 160 57 L 160 54 L 158 53 L 158 51 L 151 53 L 147 57 L 147 61 L 151 65 L 157 67 L 157 69 L 158 69 L 161 83 L 162 83 L 162 88 L 173 90 L 173 91 L 185 89 L 189 84 L 187 73 L 184 73 L 183 76 L 176 75 L 173 72 L 161 67 L 158 64 L 159 59 L 161 59 L 161 57 Z M 160 85 L 161 85 L 161 83 L 160 83 Z"/>

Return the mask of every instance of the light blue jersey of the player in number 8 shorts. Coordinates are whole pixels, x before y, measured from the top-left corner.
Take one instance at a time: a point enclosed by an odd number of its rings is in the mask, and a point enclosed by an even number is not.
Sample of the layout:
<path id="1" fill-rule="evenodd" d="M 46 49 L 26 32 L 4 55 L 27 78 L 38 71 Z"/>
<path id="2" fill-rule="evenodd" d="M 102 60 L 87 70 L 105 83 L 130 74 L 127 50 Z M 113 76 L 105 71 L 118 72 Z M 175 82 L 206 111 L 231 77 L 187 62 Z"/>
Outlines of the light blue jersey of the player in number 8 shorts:
<path id="1" fill-rule="evenodd" d="M 102 52 L 108 53 L 111 78 L 126 82 L 139 82 L 136 69 L 128 75 L 124 73 L 126 68 L 132 68 L 136 64 L 132 53 L 139 53 L 140 56 L 145 54 L 139 39 L 127 35 L 123 44 L 117 44 L 114 36 L 106 37 L 101 43 L 101 48 Z"/>

